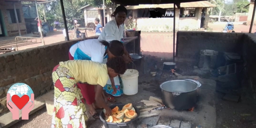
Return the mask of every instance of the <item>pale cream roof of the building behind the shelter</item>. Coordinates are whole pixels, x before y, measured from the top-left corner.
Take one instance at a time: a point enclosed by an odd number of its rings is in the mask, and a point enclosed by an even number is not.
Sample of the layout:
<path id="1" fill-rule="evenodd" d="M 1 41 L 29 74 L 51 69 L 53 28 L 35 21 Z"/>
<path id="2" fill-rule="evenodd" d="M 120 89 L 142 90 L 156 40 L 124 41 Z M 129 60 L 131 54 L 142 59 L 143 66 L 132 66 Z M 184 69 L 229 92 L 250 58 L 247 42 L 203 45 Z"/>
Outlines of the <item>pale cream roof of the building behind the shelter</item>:
<path id="1" fill-rule="evenodd" d="M 180 3 L 181 8 L 197 8 L 197 7 L 216 7 L 212 3 L 208 1 L 197 1 L 197 2 L 187 2 L 187 3 Z M 150 8 L 163 8 L 169 9 L 173 8 L 173 3 L 170 4 L 140 4 L 138 6 L 126 6 L 126 9 L 150 9 Z M 177 6 L 176 6 L 177 8 Z"/>

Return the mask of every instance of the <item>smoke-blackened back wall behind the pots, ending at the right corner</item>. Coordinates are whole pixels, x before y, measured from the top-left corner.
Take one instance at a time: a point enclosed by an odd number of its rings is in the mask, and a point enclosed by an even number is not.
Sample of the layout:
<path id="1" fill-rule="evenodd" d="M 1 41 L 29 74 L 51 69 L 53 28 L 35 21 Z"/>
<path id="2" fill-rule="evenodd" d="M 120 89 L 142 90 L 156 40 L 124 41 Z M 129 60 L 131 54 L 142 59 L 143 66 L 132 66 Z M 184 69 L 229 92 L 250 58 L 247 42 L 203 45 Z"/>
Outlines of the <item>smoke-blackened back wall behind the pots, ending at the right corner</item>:
<path id="1" fill-rule="evenodd" d="M 241 53 L 243 37 L 244 33 L 180 31 L 177 32 L 176 55 L 198 61 L 201 49 Z"/>

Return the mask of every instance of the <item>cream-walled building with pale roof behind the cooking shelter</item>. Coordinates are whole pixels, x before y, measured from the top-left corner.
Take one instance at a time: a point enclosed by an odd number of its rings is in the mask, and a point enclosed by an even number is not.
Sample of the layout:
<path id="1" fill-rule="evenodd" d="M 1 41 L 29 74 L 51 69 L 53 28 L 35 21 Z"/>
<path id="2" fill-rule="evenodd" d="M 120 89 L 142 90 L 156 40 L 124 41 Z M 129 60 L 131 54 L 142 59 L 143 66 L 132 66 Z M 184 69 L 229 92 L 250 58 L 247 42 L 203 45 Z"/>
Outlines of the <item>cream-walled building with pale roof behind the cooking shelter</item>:
<path id="1" fill-rule="evenodd" d="M 208 1 L 180 3 L 180 9 L 175 8 L 175 28 L 177 30 L 193 30 L 199 29 L 201 25 L 202 9 L 207 12 L 207 8 L 215 7 Z M 149 11 L 151 9 L 162 8 L 166 9 L 165 15 L 162 18 L 149 18 Z M 136 27 L 141 31 L 172 31 L 174 9 L 173 4 L 152 4 L 152 5 L 138 5 L 126 6 L 128 13 L 132 11 L 133 17 L 136 19 Z M 183 16 L 184 15 L 184 16 Z M 204 28 L 207 28 L 207 18 L 204 23 Z"/>

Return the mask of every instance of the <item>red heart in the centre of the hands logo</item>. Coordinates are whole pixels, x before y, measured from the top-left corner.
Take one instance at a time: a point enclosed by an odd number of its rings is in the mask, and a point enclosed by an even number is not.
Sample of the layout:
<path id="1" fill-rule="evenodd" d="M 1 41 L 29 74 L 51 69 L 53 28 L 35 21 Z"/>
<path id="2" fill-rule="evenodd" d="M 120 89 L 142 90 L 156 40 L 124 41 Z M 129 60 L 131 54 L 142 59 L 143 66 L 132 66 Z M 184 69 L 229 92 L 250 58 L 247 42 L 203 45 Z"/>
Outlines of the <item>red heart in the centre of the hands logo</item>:
<path id="1" fill-rule="evenodd" d="M 12 102 L 21 110 L 26 105 L 26 103 L 29 102 L 29 96 L 23 95 L 20 97 L 18 95 L 13 95 Z"/>

